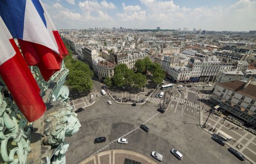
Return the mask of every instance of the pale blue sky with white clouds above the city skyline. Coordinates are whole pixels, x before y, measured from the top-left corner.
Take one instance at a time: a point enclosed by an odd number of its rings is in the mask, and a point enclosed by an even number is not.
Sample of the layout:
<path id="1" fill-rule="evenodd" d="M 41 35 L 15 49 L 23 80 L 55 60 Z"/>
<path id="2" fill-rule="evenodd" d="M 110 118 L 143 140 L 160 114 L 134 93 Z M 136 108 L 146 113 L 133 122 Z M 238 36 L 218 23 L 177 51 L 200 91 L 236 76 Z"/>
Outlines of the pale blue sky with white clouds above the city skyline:
<path id="1" fill-rule="evenodd" d="M 41 0 L 58 29 L 256 30 L 256 0 Z"/>

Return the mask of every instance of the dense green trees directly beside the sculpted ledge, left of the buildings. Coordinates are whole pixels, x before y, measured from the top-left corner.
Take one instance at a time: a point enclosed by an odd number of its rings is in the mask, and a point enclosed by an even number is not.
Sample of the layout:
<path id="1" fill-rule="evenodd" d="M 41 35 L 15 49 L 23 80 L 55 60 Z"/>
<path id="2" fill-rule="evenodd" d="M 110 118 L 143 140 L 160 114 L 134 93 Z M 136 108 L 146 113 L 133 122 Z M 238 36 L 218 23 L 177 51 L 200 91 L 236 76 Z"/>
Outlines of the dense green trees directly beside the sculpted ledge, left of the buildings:
<path id="1" fill-rule="evenodd" d="M 88 64 L 73 58 L 72 51 L 68 48 L 69 55 L 64 58 L 66 68 L 69 69 L 69 75 L 66 78 L 66 84 L 75 92 L 89 92 L 93 88 L 93 71 Z"/>

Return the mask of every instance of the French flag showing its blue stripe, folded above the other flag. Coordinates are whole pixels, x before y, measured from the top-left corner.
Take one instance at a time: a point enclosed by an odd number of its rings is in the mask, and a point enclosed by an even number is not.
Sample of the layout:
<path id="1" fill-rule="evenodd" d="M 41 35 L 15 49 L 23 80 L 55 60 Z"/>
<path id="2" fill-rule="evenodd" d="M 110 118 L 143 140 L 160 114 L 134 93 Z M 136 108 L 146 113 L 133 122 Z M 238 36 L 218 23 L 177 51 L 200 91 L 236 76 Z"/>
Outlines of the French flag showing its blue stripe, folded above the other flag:
<path id="1" fill-rule="evenodd" d="M 46 81 L 68 55 L 58 31 L 39 0 L 0 1 L 0 15 L 29 66 L 38 66 Z"/>

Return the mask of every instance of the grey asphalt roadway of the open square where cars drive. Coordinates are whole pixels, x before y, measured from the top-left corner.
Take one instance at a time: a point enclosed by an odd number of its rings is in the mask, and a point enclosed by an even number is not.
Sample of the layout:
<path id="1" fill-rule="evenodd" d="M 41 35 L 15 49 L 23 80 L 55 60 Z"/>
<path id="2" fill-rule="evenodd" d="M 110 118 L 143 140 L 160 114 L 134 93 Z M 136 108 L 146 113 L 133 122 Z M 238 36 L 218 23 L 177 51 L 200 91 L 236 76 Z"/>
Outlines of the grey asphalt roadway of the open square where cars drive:
<path id="1" fill-rule="evenodd" d="M 185 93 L 174 92 L 179 98 L 186 96 Z M 191 109 L 186 111 L 187 107 L 181 107 L 175 101 L 171 103 L 174 104 L 173 108 L 161 114 L 156 110 L 157 104 L 146 103 L 132 107 L 112 101 L 113 105 L 109 106 L 106 101 L 110 99 L 108 95 L 101 96 L 95 105 L 78 113 L 81 128 L 75 135 L 66 138 L 70 145 L 66 153 L 67 163 L 78 163 L 102 148 L 101 151 L 131 150 L 146 156 L 150 156 L 152 151 L 157 151 L 163 155 L 161 163 L 166 164 L 243 163 L 199 127 L 199 120 L 191 116 Z M 196 98 L 188 93 L 188 100 Z M 145 125 L 150 128 L 148 133 L 138 128 L 145 121 Z M 127 138 L 129 143 L 118 144 L 116 139 L 125 134 L 124 138 Z M 106 142 L 94 144 L 94 139 L 99 136 L 105 136 Z M 182 160 L 170 154 L 172 148 L 178 149 L 184 155 Z"/>

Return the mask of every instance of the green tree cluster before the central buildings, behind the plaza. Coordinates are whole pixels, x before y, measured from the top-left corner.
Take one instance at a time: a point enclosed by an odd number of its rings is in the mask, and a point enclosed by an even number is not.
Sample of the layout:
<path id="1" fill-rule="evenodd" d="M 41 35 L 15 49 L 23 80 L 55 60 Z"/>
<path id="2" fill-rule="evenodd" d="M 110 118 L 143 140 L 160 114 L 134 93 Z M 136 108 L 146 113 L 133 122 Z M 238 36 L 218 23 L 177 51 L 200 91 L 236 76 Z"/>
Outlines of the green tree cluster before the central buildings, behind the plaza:
<path id="1" fill-rule="evenodd" d="M 120 64 L 114 68 L 113 78 L 106 77 L 104 84 L 106 86 L 115 85 L 117 87 L 144 88 L 147 84 L 146 75 L 151 75 L 152 83 L 159 85 L 165 77 L 164 70 L 157 63 L 152 63 L 149 57 L 137 60 L 135 71 L 129 69 L 127 65 Z"/>

